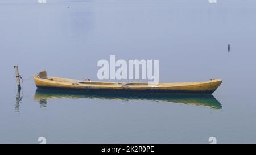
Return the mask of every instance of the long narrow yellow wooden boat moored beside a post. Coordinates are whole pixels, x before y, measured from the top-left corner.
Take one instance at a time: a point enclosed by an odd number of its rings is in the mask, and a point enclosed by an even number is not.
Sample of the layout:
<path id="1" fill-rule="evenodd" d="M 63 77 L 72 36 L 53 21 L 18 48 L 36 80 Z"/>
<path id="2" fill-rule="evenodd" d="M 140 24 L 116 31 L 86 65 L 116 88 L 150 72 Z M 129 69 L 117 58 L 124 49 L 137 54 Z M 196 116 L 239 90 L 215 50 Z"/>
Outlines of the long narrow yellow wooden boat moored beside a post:
<path id="1" fill-rule="evenodd" d="M 158 83 L 150 85 L 138 82 L 99 82 L 76 80 L 60 77 L 49 77 L 46 72 L 34 76 L 37 87 L 51 89 L 69 89 L 82 91 L 113 91 L 118 93 L 198 93 L 212 94 L 221 85 L 221 79 L 211 79 L 207 82 Z"/>

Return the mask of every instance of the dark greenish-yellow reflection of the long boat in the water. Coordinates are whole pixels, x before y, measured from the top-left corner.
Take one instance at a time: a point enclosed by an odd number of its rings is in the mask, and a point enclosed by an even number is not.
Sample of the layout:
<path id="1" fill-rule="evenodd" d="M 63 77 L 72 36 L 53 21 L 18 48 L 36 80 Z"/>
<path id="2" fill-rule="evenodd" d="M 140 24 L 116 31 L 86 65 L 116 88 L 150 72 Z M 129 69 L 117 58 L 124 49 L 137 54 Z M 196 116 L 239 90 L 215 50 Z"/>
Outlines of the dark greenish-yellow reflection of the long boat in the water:
<path id="1" fill-rule="evenodd" d="M 220 102 L 213 95 L 195 95 L 195 94 L 123 94 L 123 93 L 89 93 L 83 91 L 67 91 L 67 90 L 52 90 L 52 89 L 37 89 L 35 93 L 35 100 L 45 107 L 48 99 L 60 98 L 88 98 L 88 99 L 117 99 L 117 100 L 151 100 L 155 102 L 163 101 L 170 103 L 193 104 L 196 106 L 205 106 L 212 109 L 221 109 Z"/>

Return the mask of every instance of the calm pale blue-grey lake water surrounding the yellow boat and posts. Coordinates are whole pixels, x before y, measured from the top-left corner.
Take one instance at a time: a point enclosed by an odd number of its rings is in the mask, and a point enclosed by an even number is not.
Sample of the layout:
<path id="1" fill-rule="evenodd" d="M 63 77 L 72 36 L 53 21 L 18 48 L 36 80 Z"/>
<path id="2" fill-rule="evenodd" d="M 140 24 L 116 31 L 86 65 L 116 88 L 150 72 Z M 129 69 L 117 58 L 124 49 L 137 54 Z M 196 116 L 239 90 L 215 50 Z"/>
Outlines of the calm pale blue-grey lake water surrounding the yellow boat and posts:
<path id="1" fill-rule="evenodd" d="M 256 143 L 255 14 L 253 0 L 2 0 L 0 143 Z M 208 97 L 127 97 L 36 90 L 31 78 L 98 80 L 110 55 L 159 59 L 160 82 L 223 83 Z"/>

